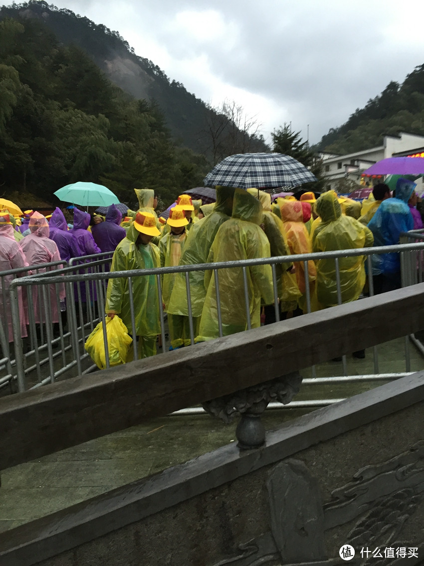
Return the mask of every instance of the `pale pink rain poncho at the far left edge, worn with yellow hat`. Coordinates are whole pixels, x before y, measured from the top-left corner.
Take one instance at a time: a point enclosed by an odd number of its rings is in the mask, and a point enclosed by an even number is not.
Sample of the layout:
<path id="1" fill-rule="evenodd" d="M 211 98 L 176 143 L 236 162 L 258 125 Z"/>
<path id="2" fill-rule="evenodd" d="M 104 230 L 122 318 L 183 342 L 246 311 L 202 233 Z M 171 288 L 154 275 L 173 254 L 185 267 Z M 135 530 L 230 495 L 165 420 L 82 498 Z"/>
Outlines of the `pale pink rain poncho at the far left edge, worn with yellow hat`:
<path id="1" fill-rule="evenodd" d="M 5 275 L 4 272 L 18 267 L 28 267 L 28 262 L 25 259 L 24 252 L 22 251 L 18 242 L 15 241 L 14 228 L 12 224 L 6 224 L 4 221 L 5 216 L 0 217 L 0 305 L 1 305 L 1 320 L 5 324 L 6 340 L 13 341 L 12 330 L 12 316 L 10 307 L 10 297 L 8 289 L 11 282 L 16 275 Z M 31 273 L 31 272 L 30 272 Z M 21 273 L 22 276 L 28 275 L 28 272 Z M 18 273 L 19 277 L 19 273 Z M 22 288 L 18 288 L 18 302 L 20 312 L 20 332 L 21 337 L 27 336 L 28 319 L 25 316 L 24 305 L 22 301 Z"/>

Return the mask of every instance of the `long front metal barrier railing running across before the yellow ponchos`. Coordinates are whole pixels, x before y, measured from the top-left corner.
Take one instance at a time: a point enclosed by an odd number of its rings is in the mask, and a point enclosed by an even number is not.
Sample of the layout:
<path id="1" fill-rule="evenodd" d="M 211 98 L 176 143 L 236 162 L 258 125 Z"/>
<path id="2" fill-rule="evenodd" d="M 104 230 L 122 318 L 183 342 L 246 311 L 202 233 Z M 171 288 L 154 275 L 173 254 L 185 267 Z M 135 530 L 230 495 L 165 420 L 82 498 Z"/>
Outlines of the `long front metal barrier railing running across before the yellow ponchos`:
<path id="1" fill-rule="evenodd" d="M 192 309 L 191 309 L 191 291 L 190 291 L 190 280 L 189 274 L 195 271 L 206 271 L 212 270 L 214 273 L 215 285 L 217 288 L 217 318 L 219 335 L 223 335 L 222 330 L 222 317 L 220 312 L 220 297 L 219 297 L 219 271 L 220 269 L 241 269 L 244 281 L 244 290 L 241 289 L 240 292 L 244 293 L 245 305 L 246 305 L 246 327 L 249 329 L 252 326 L 250 320 L 250 310 L 249 310 L 249 293 L 247 288 L 248 281 L 248 270 L 254 265 L 269 264 L 272 269 L 272 279 L 274 283 L 274 299 L 275 299 L 275 318 L 277 321 L 280 320 L 279 316 L 279 306 L 278 306 L 278 290 L 277 290 L 277 276 L 276 276 L 276 264 L 292 263 L 294 261 L 300 261 L 304 265 L 304 271 L 306 276 L 306 281 L 309 282 L 308 276 L 308 261 L 314 260 L 318 261 L 321 259 L 334 259 L 335 272 L 336 272 L 336 288 L 338 293 L 338 302 L 341 304 L 341 285 L 340 285 L 340 269 L 339 260 L 341 258 L 347 258 L 350 256 L 366 256 L 366 266 L 367 271 L 371 273 L 371 256 L 374 254 L 384 254 L 387 252 L 401 252 L 402 265 L 410 265 L 411 262 L 417 256 L 417 252 L 421 254 L 424 249 L 424 242 L 413 242 L 405 245 L 398 246 L 383 246 L 374 248 L 365 248 L 362 250 L 338 250 L 331 252 L 323 252 L 320 254 L 302 254 L 293 256 L 282 256 L 279 258 L 265 258 L 258 260 L 243 260 L 243 261 L 230 261 L 226 263 L 214 263 L 214 264 L 200 264 L 200 265 L 183 265 L 179 267 L 167 267 L 167 268 L 157 268 L 157 269 L 139 269 L 134 271 L 126 272 L 105 272 L 103 271 L 105 263 L 110 259 L 102 258 L 98 259 L 98 256 L 91 256 L 88 258 L 81 258 L 82 261 L 88 261 L 89 263 L 78 263 L 77 265 L 71 265 L 66 269 L 61 271 L 61 275 L 53 276 L 51 273 L 44 273 L 42 276 L 32 275 L 29 277 L 21 277 L 19 280 L 15 280 L 10 285 L 10 298 L 12 307 L 12 321 L 14 324 L 14 337 L 15 337 L 15 354 L 16 354 L 16 379 L 18 381 L 19 391 L 24 391 L 25 389 L 32 387 L 39 387 L 40 385 L 46 383 L 52 383 L 55 379 L 59 377 L 81 375 L 89 371 L 92 371 L 96 366 L 90 362 L 88 354 L 84 350 L 84 343 L 86 338 L 93 331 L 94 326 L 98 321 L 102 322 L 103 325 L 103 339 L 105 344 L 106 352 L 106 365 L 109 367 L 109 352 L 107 348 L 106 340 L 106 317 L 105 317 L 105 296 L 106 296 L 106 285 L 107 281 L 111 278 L 126 278 L 128 279 L 128 290 L 129 290 L 129 302 L 131 310 L 131 328 L 128 328 L 128 332 L 136 336 L 136 324 L 135 324 L 135 308 L 133 301 L 133 280 L 136 277 L 145 277 L 149 275 L 154 275 L 157 279 L 157 288 L 159 297 L 162 296 L 161 289 L 161 276 L 167 273 L 184 273 L 186 293 L 187 293 L 187 303 L 189 312 L 189 333 L 191 344 L 194 344 L 194 325 L 192 320 Z M 103 254 L 105 255 L 105 254 Z M 93 261 L 90 261 L 93 260 Z M 84 273 L 80 273 L 84 271 Z M 75 271 L 77 273 L 75 273 Z M 34 348 L 35 363 L 33 366 L 25 367 L 25 354 L 23 347 L 23 341 L 20 340 L 19 336 L 19 302 L 18 295 L 20 288 L 28 288 L 31 286 L 38 286 L 41 288 L 41 293 L 46 293 L 45 288 L 49 285 L 60 285 L 64 284 L 66 286 L 67 300 L 67 327 L 68 332 L 64 333 L 62 326 L 59 324 L 59 336 L 55 338 L 51 333 L 51 324 L 46 324 L 46 342 L 37 348 Z M 84 295 L 85 292 L 85 295 Z M 369 278 L 369 292 L 373 295 L 373 281 L 372 277 Z M 69 299 L 71 297 L 71 300 Z M 84 301 L 85 298 L 85 301 Z M 309 285 L 306 284 L 306 308 L 308 312 L 311 310 L 311 297 L 309 292 Z M 49 305 L 45 305 L 46 309 L 46 320 L 51 323 L 51 317 L 49 318 Z M 162 300 L 159 301 L 159 318 L 161 321 L 161 339 L 162 339 L 162 351 L 167 350 L 167 340 L 166 340 L 166 314 L 162 308 Z M 33 334 L 32 334 L 33 335 Z M 60 344 L 60 351 L 53 352 L 55 341 Z M 65 343 L 66 341 L 66 343 Z M 133 341 L 133 357 L 137 359 L 137 343 L 136 340 Z M 47 351 L 47 357 L 40 360 L 37 358 L 37 351 Z M 31 350 L 32 352 L 32 350 Z M 375 376 L 380 376 L 379 372 L 379 362 L 378 362 L 378 351 L 377 347 L 374 348 L 374 374 L 361 376 L 364 380 L 375 379 Z M 342 358 L 343 363 L 343 376 L 347 376 L 347 362 L 346 357 Z M 73 370 L 73 371 L 70 371 Z M 75 371 L 76 370 L 76 371 Z M 36 373 L 36 379 L 34 380 L 33 374 Z M 393 373 L 384 374 L 384 379 L 395 379 L 401 375 L 406 375 L 410 372 L 410 360 L 409 360 L 409 340 L 405 337 L 405 372 L 403 373 Z M 30 376 L 31 374 L 31 376 Z M 312 377 L 315 378 L 314 368 L 312 369 Z M 316 379 L 316 378 L 315 378 Z M 332 378 L 328 378 L 332 379 Z M 380 379 L 378 377 L 377 379 Z M 315 383 L 318 383 L 315 381 Z M 293 405 L 292 405 L 293 406 Z"/>

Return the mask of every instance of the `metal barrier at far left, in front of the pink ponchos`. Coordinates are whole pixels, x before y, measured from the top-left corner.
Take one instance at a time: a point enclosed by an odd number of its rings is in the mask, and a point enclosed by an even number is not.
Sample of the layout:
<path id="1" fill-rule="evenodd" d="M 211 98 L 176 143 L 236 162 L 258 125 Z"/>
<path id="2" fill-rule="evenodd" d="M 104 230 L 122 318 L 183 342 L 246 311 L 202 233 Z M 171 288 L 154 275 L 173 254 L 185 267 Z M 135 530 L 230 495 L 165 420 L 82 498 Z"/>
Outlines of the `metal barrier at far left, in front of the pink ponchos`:
<path id="1" fill-rule="evenodd" d="M 20 288 L 18 291 L 18 310 L 15 312 L 15 323 L 12 323 L 11 305 L 9 299 L 10 284 L 16 277 L 23 277 L 25 274 L 32 273 L 34 277 L 45 281 L 54 271 L 60 276 L 67 273 L 87 272 L 105 272 L 105 265 L 109 268 L 110 258 L 113 254 L 110 252 L 96 254 L 93 256 L 84 256 L 83 258 L 71 259 L 68 267 L 66 261 L 57 261 L 41 265 L 30 265 L 27 268 L 10 269 L 3 271 L 0 275 L 0 284 L 2 293 L 0 299 L 3 303 L 3 315 L 0 325 L 0 346 L 2 350 L 2 359 L 0 359 L 0 387 L 10 386 L 11 391 L 15 391 L 16 379 L 18 374 L 37 375 L 37 384 L 51 383 L 54 379 L 66 372 L 67 359 L 70 361 L 70 367 L 76 365 L 75 359 L 72 361 L 73 350 L 71 347 L 71 335 L 75 329 L 67 325 L 66 302 L 60 301 L 59 286 L 64 285 L 64 278 L 60 283 L 45 283 L 33 287 L 33 292 L 27 293 L 26 288 Z M 96 260 L 96 261 L 93 261 Z M 89 265 L 86 262 L 89 262 Z M 84 286 L 88 285 L 84 283 Z M 34 290 L 35 289 L 35 290 Z M 68 301 L 75 302 L 81 297 L 81 289 L 76 289 L 76 293 L 68 291 Z M 21 302 L 21 297 L 24 301 Z M 34 298 L 37 306 L 34 306 Z M 93 328 L 96 322 L 96 316 L 93 312 L 92 305 L 89 302 L 87 308 L 85 303 L 77 302 L 80 306 L 81 320 L 84 319 L 85 324 Z M 57 314 L 57 320 L 53 320 L 52 312 Z M 16 332 L 19 334 L 21 329 L 21 320 L 25 321 L 27 336 L 20 332 L 22 340 L 16 341 L 13 336 L 12 324 L 15 324 Z M 18 349 L 18 357 L 20 358 L 19 366 L 15 359 L 16 349 Z M 44 367 L 49 367 L 49 377 L 45 374 Z M 21 391 L 21 387 L 19 387 Z"/>

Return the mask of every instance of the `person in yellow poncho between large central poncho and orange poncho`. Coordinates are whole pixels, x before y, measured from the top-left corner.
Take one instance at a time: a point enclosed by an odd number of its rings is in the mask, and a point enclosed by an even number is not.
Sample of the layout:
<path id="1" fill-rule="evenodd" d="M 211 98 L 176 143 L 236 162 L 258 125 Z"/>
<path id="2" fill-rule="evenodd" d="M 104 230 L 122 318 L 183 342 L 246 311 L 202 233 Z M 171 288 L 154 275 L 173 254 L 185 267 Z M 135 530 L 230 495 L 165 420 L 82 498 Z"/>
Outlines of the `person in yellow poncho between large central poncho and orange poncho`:
<path id="1" fill-rule="evenodd" d="M 262 204 L 261 226 L 270 243 L 271 258 L 289 255 L 290 250 L 284 224 L 279 216 L 271 212 L 271 195 L 257 188 L 248 188 L 248 193 L 257 198 Z M 284 199 L 282 200 L 284 201 Z M 297 300 L 300 297 L 296 276 L 294 273 L 291 273 L 292 266 L 292 263 L 279 263 L 275 265 L 278 298 L 283 312 L 296 308 Z M 276 321 L 274 305 L 265 305 L 263 314 L 265 314 L 265 324 L 272 324 Z"/>

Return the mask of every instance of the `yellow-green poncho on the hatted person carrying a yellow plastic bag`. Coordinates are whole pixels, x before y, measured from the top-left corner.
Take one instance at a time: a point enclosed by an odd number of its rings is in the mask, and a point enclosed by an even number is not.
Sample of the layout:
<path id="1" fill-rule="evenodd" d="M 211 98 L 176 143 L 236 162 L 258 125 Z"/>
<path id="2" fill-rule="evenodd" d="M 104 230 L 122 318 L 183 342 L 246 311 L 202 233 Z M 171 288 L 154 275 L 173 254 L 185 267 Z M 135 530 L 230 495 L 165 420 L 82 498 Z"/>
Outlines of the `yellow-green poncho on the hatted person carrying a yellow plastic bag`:
<path id="1" fill-rule="evenodd" d="M 127 236 L 116 247 L 110 271 L 150 269 L 160 267 L 159 250 L 152 243 L 137 245 L 140 232 L 129 226 Z M 159 323 L 158 286 L 155 275 L 132 278 L 132 294 L 137 336 L 156 336 L 161 332 Z M 132 335 L 129 307 L 128 279 L 110 279 L 107 284 L 106 312 L 118 314 Z"/>

